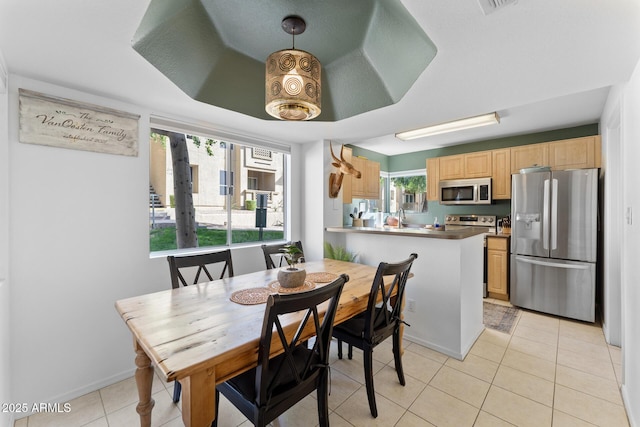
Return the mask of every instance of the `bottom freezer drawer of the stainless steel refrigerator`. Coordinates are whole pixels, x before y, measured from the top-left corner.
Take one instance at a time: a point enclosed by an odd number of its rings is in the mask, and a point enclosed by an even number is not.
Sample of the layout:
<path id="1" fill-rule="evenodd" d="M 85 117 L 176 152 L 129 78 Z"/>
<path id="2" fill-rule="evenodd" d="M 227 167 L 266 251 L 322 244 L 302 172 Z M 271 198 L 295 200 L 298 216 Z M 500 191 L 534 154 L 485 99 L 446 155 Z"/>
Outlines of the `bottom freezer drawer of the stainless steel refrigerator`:
<path id="1" fill-rule="evenodd" d="M 595 321 L 595 263 L 511 255 L 511 304 Z"/>

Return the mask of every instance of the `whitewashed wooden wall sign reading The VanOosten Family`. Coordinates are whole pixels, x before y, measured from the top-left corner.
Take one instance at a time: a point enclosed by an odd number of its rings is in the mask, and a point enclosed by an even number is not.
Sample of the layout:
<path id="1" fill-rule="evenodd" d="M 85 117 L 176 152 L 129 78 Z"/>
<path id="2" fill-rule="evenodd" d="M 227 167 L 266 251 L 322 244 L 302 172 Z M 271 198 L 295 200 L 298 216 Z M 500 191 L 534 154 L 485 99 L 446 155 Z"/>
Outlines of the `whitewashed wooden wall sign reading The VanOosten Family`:
<path id="1" fill-rule="evenodd" d="M 20 89 L 20 142 L 138 155 L 139 115 Z"/>

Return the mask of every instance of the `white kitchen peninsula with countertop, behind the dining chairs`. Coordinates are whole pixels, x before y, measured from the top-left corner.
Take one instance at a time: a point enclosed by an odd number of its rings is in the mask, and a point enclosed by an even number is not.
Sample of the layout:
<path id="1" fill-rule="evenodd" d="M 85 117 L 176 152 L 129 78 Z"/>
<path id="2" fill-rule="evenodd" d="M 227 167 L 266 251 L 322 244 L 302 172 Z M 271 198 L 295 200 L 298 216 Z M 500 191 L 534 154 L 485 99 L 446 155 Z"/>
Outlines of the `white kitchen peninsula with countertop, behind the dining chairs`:
<path id="1" fill-rule="evenodd" d="M 483 235 L 476 229 L 327 227 L 358 262 L 378 265 L 418 254 L 405 293 L 407 339 L 462 360 L 484 329 Z"/>

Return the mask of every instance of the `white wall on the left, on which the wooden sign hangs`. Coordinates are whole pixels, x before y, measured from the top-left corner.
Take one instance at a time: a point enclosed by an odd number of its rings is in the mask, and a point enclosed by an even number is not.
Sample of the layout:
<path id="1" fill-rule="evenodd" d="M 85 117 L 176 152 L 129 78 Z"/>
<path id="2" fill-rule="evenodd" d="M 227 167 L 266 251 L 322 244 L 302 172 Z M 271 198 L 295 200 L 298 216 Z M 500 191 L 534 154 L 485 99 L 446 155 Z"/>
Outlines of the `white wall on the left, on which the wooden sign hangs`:
<path id="1" fill-rule="evenodd" d="M 0 159 L 8 157 L 0 160 L 0 205 L 8 199 L 11 218 L 9 401 L 64 402 L 132 374 L 131 335 L 114 302 L 171 286 L 166 260 L 149 258 L 150 112 L 21 76 L 10 82 L 9 149 L 0 144 Z M 20 143 L 18 88 L 140 114 L 139 155 Z M 292 147 L 294 165 L 299 155 Z M 2 185 L 6 164 L 8 192 Z M 293 191 L 299 194 L 301 185 L 292 183 Z M 299 200 L 292 205 L 294 219 Z M 299 237 L 300 222 L 293 220 L 291 230 Z M 5 231 L 0 228 L 0 237 Z M 5 252 L 0 246 L 0 255 Z M 259 246 L 234 248 L 233 261 L 236 274 L 264 268 Z"/>

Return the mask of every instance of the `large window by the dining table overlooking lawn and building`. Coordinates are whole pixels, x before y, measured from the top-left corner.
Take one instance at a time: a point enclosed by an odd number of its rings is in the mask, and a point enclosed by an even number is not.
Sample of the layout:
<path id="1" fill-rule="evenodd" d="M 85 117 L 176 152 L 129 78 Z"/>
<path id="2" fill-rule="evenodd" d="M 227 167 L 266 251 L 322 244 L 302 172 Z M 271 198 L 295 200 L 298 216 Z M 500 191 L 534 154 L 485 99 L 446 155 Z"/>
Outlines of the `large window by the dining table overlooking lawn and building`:
<path id="1" fill-rule="evenodd" d="M 150 142 L 150 191 L 160 199 L 149 209 L 151 252 L 177 249 L 181 212 L 176 212 L 175 192 L 185 191 L 180 184 L 174 188 L 172 149 L 163 134 L 153 129 Z M 197 224 L 194 246 L 258 242 L 260 236 L 263 241 L 285 239 L 288 153 L 194 135 L 187 135 L 186 147 L 180 150 L 186 151 L 190 165 L 186 180 L 191 179 Z M 258 206 L 261 196 L 265 208 Z M 265 211 L 266 228 L 257 228 L 256 215 Z"/>

